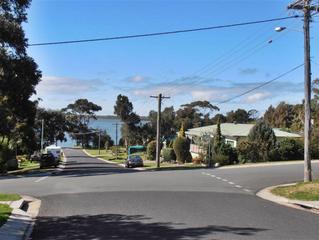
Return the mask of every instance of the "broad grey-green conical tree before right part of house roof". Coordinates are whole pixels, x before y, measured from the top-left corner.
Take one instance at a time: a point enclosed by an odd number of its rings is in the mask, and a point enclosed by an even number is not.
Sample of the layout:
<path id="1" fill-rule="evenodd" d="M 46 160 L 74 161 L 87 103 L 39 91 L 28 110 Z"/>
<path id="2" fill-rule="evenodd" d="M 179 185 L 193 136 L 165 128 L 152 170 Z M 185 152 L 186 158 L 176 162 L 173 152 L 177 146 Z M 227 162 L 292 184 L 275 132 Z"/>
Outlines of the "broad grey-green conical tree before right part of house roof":
<path id="1" fill-rule="evenodd" d="M 250 130 L 248 141 L 254 143 L 259 150 L 259 159 L 269 160 L 269 153 L 276 146 L 276 136 L 272 128 L 264 121 L 259 121 Z"/>

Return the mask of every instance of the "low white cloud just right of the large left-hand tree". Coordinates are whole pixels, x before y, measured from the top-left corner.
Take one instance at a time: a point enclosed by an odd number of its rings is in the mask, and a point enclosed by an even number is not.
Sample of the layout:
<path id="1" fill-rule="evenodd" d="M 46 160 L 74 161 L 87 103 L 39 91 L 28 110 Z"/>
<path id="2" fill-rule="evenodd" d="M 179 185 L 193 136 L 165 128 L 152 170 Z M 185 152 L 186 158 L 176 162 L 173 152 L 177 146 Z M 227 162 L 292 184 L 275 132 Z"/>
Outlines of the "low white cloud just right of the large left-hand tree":
<path id="1" fill-rule="evenodd" d="M 69 77 L 44 76 L 37 86 L 37 95 L 74 95 L 94 92 L 103 82 L 99 79 L 77 79 Z"/>

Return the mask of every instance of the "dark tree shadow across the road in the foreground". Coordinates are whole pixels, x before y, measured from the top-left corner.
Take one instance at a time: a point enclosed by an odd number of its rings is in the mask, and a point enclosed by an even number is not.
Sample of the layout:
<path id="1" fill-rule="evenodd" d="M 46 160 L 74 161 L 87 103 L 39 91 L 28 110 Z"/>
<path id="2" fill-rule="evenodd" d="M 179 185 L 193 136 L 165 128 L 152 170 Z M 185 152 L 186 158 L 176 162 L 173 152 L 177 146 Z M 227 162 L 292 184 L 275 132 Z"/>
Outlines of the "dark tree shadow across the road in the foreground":
<path id="1" fill-rule="evenodd" d="M 142 215 L 101 214 L 94 216 L 40 217 L 32 239 L 199 239 L 208 234 L 230 233 L 250 236 L 262 228 L 206 226 L 181 228 L 183 224 L 150 222 Z M 175 226 L 175 227 L 174 227 Z M 211 238 L 210 238 L 211 239 Z"/>

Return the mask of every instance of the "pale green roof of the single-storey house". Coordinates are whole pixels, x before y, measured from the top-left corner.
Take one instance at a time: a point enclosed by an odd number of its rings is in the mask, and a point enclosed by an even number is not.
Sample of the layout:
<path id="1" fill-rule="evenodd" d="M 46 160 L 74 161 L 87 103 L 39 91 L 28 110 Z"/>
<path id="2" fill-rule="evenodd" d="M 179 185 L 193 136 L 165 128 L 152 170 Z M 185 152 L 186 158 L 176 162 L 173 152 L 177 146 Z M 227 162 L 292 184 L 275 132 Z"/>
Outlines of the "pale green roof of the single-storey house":
<path id="1" fill-rule="evenodd" d="M 242 124 L 242 123 L 222 123 L 220 124 L 220 129 L 222 135 L 231 136 L 231 137 L 247 137 L 250 130 L 255 124 Z M 191 136 L 202 136 L 205 134 L 214 135 L 217 129 L 217 125 L 210 125 L 199 128 L 191 128 L 186 131 L 187 135 Z M 286 137 L 286 138 L 299 138 L 301 137 L 299 134 L 290 133 L 286 131 L 282 131 L 278 128 L 274 128 L 274 133 L 276 137 Z"/>

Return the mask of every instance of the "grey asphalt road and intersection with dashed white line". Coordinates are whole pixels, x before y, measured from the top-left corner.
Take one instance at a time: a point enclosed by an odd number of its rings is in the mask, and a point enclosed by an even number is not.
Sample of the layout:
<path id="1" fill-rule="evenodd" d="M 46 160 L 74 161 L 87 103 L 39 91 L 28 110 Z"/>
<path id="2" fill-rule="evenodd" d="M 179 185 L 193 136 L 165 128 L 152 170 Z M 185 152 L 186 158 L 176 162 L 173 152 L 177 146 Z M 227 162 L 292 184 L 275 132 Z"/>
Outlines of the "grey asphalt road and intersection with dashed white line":
<path id="1" fill-rule="evenodd" d="M 55 175 L 0 177 L 1 192 L 42 200 L 34 240 L 318 239 L 318 215 L 255 196 L 302 180 L 302 164 L 136 171 L 65 153 L 66 168 Z"/>

